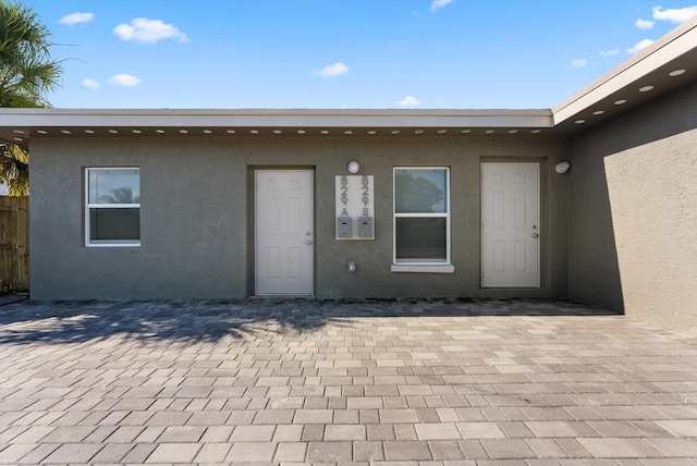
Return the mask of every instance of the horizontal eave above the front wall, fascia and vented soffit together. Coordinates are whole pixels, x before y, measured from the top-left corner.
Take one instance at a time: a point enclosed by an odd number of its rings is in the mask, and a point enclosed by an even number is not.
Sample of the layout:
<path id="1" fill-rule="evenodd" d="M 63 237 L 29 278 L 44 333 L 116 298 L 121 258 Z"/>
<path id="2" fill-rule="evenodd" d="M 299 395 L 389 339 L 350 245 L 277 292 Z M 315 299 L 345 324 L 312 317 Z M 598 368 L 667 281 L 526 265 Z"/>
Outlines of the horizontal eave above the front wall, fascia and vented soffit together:
<path id="1" fill-rule="evenodd" d="M 7 109 L 0 138 L 536 135 L 550 110 Z"/>

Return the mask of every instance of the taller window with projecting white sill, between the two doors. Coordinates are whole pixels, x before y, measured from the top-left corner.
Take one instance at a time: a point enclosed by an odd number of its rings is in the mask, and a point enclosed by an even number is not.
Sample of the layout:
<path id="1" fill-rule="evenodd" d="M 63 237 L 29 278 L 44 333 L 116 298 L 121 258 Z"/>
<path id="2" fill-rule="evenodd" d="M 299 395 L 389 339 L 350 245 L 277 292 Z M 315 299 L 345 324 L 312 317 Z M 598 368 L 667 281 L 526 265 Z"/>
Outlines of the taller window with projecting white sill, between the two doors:
<path id="1" fill-rule="evenodd" d="M 449 177 L 447 168 L 394 169 L 392 271 L 453 271 Z"/>

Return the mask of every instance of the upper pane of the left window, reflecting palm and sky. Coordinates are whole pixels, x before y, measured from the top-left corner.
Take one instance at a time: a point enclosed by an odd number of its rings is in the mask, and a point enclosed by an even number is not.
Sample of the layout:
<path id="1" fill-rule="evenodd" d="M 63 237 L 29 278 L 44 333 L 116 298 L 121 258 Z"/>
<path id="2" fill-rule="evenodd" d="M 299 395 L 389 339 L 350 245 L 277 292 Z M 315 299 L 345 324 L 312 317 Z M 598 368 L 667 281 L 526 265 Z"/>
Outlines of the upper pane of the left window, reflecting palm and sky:
<path id="1" fill-rule="evenodd" d="M 89 204 L 139 204 L 138 169 L 89 170 Z"/>

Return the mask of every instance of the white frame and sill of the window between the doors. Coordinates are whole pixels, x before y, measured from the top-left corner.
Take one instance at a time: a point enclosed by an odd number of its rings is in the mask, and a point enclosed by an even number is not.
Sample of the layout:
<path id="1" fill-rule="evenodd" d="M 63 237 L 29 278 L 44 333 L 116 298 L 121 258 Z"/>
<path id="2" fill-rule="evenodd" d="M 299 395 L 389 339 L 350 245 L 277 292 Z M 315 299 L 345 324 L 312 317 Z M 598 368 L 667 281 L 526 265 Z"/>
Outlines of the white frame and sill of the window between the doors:
<path id="1" fill-rule="evenodd" d="M 445 212 L 443 213 L 398 213 L 396 212 L 396 171 L 398 170 L 445 170 Z M 444 260 L 398 260 L 396 258 L 396 219 L 398 218 L 444 218 L 445 219 L 445 259 Z M 450 168 L 449 167 L 394 167 L 392 169 L 392 272 L 414 273 L 453 273 L 450 241 Z"/>

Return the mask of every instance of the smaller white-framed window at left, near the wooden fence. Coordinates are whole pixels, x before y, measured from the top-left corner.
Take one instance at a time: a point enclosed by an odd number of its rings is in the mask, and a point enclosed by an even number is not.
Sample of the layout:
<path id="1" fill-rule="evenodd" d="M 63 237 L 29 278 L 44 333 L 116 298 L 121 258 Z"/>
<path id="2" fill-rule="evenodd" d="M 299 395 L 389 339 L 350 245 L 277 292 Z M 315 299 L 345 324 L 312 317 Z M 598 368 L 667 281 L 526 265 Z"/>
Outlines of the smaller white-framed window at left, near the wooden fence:
<path id="1" fill-rule="evenodd" d="M 85 187 L 86 246 L 139 246 L 139 169 L 86 169 Z"/>

